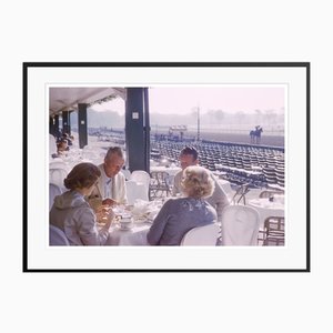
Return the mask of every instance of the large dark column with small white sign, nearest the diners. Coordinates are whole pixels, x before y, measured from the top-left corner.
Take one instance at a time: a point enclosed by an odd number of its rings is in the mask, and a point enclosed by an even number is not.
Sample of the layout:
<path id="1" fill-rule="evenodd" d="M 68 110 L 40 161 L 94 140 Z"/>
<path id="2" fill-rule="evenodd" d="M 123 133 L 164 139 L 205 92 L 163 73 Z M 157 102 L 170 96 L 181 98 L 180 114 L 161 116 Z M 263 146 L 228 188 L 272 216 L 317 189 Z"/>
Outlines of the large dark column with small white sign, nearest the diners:
<path id="1" fill-rule="evenodd" d="M 128 88 L 125 102 L 127 159 L 130 171 L 149 172 L 149 114 L 145 88 Z"/>

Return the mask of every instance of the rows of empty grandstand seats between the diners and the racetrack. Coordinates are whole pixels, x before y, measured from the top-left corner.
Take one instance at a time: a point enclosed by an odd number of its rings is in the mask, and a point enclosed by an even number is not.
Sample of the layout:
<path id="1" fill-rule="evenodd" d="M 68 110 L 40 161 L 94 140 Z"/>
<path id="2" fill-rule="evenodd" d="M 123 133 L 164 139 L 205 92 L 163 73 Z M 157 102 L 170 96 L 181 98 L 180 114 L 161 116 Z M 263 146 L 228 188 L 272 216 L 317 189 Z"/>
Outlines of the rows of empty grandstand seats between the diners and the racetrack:
<path id="1" fill-rule="evenodd" d="M 151 158 L 176 163 L 185 142 L 167 140 L 151 142 Z M 191 142 L 200 165 L 223 174 L 231 183 L 250 188 L 284 186 L 284 149 L 230 142 Z"/>

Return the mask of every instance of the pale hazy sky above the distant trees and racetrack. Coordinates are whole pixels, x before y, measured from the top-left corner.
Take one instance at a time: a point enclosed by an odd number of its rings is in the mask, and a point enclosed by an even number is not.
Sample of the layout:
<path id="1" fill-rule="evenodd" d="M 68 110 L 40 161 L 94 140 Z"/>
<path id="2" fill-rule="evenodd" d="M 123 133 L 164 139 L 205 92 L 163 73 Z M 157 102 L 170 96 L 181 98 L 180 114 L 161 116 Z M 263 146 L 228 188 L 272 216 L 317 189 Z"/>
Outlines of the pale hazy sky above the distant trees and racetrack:
<path id="1" fill-rule="evenodd" d="M 209 110 L 225 112 L 254 112 L 254 110 L 284 110 L 285 95 L 282 87 L 196 87 L 196 88 L 151 88 L 149 108 L 152 113 L 192 112 L 200 107 L 204 113 Z M 93 105 L 95 111 L 118 111 L 124 113 L 124 101 L 115 99 L 108 103 Z"/>

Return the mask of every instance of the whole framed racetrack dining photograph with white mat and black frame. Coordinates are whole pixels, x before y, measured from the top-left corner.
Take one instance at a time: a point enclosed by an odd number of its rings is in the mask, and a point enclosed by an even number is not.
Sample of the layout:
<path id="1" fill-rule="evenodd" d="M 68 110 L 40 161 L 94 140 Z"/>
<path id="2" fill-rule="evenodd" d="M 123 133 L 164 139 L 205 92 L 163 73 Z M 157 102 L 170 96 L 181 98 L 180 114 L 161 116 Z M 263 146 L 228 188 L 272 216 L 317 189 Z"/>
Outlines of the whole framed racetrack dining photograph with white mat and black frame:
<path id="1" fill-rule="evenodd" d="M 309 120 L 310 63 L 23 63 L 23 271 L 309 272 Z"/>

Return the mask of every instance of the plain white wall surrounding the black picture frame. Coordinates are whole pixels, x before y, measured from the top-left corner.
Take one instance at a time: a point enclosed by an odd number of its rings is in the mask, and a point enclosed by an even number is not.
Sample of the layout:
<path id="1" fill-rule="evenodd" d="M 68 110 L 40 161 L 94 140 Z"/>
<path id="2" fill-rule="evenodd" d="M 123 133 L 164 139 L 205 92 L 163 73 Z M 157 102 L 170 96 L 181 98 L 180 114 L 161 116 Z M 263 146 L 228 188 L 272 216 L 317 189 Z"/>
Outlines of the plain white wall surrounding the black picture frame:
<path id="1" fill-rule="evenodd" d="M 330 332 L 329 1 L 72 2 L 0 4 L 0 331 Z M 311 61 L 312 272 L 23 274 L 23 61 Z"/>

